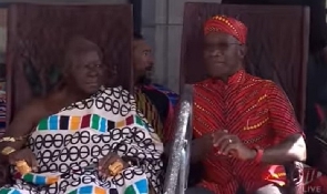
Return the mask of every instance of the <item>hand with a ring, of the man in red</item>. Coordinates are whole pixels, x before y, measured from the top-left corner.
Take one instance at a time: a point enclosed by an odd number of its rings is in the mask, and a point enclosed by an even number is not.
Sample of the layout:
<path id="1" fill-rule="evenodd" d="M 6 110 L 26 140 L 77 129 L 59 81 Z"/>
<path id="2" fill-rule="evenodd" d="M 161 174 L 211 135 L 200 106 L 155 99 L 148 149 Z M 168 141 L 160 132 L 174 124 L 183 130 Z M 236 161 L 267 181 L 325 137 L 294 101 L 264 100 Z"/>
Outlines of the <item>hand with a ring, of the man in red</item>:
<path id="1" fill-rule="evenodd" d="M 213 134 L 214 146 L 217 147 L 218 154 L 236 157 L 242 161 L 252 160 L 256 151 L 248 149 L 243 144 L 238 136 L 228 134 L 227 131 L 219 131 Z"/>

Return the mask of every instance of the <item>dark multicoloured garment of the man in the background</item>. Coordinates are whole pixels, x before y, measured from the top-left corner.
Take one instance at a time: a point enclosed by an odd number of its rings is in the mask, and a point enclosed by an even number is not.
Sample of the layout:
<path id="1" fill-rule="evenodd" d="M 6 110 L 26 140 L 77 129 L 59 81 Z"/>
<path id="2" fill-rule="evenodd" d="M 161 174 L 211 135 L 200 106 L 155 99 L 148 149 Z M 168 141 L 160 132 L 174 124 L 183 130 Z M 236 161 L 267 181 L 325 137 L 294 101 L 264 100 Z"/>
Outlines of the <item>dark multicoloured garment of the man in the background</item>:
<path id="1" fill-rule="evenodd" d="M 174 108 L 178 94 L 160 84 L 150 84 L 135 88 L 137 109 L 144 114 L 155 133 L 163 139 L 168 122 L 174 115 Z"/>

